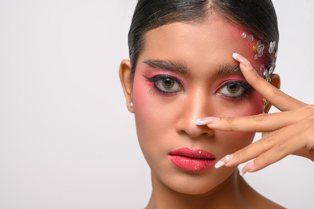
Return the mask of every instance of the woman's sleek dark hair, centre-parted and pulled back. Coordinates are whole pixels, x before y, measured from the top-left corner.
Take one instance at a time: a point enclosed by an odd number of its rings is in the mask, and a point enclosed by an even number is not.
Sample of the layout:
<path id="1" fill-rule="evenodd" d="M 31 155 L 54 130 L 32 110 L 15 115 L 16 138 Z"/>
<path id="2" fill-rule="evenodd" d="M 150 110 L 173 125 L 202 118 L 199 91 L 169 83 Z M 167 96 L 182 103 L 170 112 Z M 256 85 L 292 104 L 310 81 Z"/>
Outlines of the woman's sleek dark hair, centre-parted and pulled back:
<path id="1" fill-rule="evenodd" d="M 266 68 L 275 67 L 275 53 L 268 53 L 269 43 L 276 42 L 273 50 L 276 52 L 279 40 L 271 0 L 138 0 L 128 34 L 130 79 L 133 79 L 148 30 L 174 22 L 202 21 L 211 13 L 244 27 L 254 39 L 264 43 Z"/>

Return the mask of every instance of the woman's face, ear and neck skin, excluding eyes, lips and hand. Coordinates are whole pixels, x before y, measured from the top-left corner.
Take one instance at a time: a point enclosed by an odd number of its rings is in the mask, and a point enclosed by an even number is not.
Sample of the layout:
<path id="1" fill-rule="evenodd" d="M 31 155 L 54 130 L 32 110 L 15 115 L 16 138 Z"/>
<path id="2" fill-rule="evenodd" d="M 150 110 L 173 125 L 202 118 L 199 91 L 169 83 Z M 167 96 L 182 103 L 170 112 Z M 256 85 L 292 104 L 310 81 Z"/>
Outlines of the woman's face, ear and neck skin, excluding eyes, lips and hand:
<path id="1" fill-rule="evenodd" d="M 127 107 L 134 113 L 139 144 L 151 168 L 153 191 L 146 208 L 282 208 L 247 185 L 236 163 L 193 172 L 175 166 L 169 159 L 172 150 L 189 147 L 209 151 L 218 160 L 252 142 L 254 131 L 220 130 L 224 125 L 217 125 L 228 121 L 227 117 L 257 115 L 264 110 L 258 91 L 248 91 L 236 100 L 222 94 L 226 82 L 247 79 L 240 69 L 219 73 L 237 69 L 234 52 L 246 57 L 255 69 L 263 64 L 262 59 L 254 60 L 248 41 L 241 37 L 243 32 L 216 15 L 201 23 L 172 23 L 146 33 L 133 81 L 128 79 L 130 62 L 122 61 L 120 79 Z M 171 61 L 188 72 L 155 68 L 147 60 Z M 147 77 L 157 75 L 175 77 L 182 84 L 180 91 L 156 91 Z M 279 77 L 272 79 L 278 87 Z M 206 116 L 220 118 L 215 128 L 211 128 L 213 124 L 195 124 Z"/>

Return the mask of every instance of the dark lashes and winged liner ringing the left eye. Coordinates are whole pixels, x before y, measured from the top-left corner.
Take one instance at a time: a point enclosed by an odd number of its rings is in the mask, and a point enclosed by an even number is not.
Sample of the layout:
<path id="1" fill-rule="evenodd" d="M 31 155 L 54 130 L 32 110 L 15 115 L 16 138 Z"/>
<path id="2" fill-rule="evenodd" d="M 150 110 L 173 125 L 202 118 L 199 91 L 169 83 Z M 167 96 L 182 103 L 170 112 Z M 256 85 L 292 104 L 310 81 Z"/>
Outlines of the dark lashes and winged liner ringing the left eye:
<path id="1" fill-rule="evenodd" d="M 149 90 L 149 92 L 151 94 L 159 93 L 159 94 L 161 94 L 163 96 L 168 96 L 168 95 L 171 96 L 171 95 L 176 95 L 176 94 L 184 91 L 182 83 L 176 77 L 173 77 L 173 76 L 170 76 L 170 75 L 157 75 L 157 76 L 154 76 L 154 77 L 151 77 L 151 78 L 146 77 L 146 76 L 143 75 L 143 77 L 146 79 L 146 81 L 153 83 L 153 87 Z M 171 79 L 172 81 L 176 82 L 181 87 L 182 90 L 180 90 L 180 91 L 173 91 L 173 92 L 172 91 L 164 91 L 164 90 L 162 90 L 161 88 L 159 88 L 157 86 L 156 83 L 158 81 L 160 81 L 160 80 L 163 80 L 163 79 Z"/>

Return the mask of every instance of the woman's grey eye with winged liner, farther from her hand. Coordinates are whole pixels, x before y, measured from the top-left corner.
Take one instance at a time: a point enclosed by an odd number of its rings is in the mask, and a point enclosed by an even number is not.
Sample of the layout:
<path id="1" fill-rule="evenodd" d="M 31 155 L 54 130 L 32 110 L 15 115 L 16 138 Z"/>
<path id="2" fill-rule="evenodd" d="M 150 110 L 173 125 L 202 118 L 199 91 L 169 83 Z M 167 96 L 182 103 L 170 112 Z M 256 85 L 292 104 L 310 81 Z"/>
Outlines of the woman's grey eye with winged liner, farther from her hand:
<path id="1" fill-rule="evenodd" d="M 153 83 L 153 86 L 156 90 L 164 92 L 164 93 L 177 93 L 183 91 L 183 85 L 181 82 L 169 75 L 158 75 L 152 78 L 148 78 L 144 76 L 147 81 Z"/>

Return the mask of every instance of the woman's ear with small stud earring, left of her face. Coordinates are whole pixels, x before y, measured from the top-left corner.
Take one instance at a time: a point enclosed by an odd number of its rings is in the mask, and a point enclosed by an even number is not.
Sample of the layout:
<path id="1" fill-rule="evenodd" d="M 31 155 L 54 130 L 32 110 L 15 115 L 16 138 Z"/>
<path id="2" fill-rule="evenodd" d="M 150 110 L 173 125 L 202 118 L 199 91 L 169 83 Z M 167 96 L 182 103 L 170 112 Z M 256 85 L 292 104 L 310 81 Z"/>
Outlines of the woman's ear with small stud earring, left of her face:
<path id="1" fill-rule="evenodd" d="M 122 60 L 119 69 L 120 81 L 126 99 L 126 107 L 131 113 L 134 113 L 133 106 L 130 105 L 130 103 L 132 102 L 132 86 L 133 86 L 133 81 L 129 79 L 130 72 L 131 62 L 129 60 Z"/>

